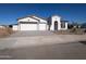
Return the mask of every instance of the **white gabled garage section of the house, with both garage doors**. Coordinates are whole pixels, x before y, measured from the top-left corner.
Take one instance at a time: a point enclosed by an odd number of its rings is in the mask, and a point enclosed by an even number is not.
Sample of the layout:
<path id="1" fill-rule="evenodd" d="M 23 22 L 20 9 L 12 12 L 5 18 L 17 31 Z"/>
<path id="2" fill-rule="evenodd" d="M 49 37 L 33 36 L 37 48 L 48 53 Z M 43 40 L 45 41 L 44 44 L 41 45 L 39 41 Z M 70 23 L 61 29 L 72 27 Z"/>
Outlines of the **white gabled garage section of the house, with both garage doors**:
<path id="1" fill-rule="evenodd" d="M 47 30 L 47 21 L 35 15 L 21 17 L 17 23 L 19 30 Z"/>

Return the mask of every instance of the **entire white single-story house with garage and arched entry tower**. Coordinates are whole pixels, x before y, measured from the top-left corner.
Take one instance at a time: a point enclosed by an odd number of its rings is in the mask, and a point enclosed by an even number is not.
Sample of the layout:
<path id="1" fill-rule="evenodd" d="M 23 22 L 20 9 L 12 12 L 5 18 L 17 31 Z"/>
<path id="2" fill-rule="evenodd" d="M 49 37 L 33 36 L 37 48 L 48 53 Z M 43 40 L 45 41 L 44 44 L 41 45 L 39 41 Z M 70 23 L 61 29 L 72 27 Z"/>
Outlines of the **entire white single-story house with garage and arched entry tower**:
<path id="1" fill-rule="evenodd" d="M 17 25 L 13 25 L 14 30 L 66 30 L 67 22 L 61 21 L 58 15 L 42 18 L 36 15 L 29 15 L 17 18 Z"/>

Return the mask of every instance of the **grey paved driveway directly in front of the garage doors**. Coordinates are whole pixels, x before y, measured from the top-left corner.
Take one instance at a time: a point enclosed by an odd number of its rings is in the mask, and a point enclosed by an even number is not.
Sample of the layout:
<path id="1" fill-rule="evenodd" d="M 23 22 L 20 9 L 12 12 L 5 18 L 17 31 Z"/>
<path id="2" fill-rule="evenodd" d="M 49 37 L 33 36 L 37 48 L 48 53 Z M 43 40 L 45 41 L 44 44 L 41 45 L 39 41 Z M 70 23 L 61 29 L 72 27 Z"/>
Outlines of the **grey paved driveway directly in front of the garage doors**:
<path id="1" fill-rule="evenodd" d="M 50 36 L 50 35 L 54 35 L 52 31 L 17 31 L 15 34 L 13 34 L 11 37 L 32 37 L 32 36 Z"/>

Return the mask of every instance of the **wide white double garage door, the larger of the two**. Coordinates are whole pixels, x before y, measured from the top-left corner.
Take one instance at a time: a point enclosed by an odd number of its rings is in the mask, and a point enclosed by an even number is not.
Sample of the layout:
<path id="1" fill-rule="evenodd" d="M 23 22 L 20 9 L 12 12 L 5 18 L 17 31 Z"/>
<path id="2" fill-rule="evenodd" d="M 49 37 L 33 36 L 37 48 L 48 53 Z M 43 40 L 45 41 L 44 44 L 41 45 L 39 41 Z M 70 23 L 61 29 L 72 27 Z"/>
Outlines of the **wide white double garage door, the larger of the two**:
<path id="1" fill-rule="evenodd" d="M 37 30 L 37 24 L 20 24 L 20 30 Z"/>

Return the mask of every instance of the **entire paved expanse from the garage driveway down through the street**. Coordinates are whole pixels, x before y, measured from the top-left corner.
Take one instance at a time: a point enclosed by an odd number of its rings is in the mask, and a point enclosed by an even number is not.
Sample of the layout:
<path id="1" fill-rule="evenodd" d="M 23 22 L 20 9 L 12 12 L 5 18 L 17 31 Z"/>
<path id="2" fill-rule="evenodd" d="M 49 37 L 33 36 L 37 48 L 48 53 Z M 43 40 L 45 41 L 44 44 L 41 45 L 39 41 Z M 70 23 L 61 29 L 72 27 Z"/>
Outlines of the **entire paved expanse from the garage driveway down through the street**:
<path id="1" fill-rule="evenodd" d="M 0 59 L 86 59 L 86 35 L 17 31 L 0 40 Z"/>

